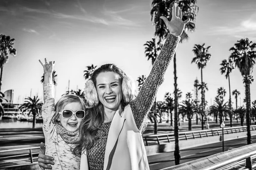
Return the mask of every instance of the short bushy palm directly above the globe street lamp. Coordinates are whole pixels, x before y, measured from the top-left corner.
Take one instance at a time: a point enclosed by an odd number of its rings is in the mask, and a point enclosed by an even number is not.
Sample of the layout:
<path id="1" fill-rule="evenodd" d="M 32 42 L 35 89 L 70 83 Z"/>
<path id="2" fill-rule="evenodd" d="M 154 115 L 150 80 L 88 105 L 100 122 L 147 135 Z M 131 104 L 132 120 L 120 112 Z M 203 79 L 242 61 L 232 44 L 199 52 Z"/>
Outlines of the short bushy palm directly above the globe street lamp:
<path id="1" fill-rule="evenodd" d="M 228 102 L 224 103 L 224 100 L 216 98 L 214 104 L 209 107 L 209 113 L 213 115 L 218 115 L 220 118 L 220 125 L 223 122 L 223 117 L 225 113 L 229 113 L 230 110 L 227 105 Z"/>

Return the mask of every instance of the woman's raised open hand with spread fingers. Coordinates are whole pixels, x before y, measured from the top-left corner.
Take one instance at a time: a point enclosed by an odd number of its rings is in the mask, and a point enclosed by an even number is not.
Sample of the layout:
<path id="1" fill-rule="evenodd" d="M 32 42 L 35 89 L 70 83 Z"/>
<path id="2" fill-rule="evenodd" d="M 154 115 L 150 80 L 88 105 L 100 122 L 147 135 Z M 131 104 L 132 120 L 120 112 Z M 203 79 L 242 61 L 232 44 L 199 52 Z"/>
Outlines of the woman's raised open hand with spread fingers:
<path id="1" fill-rule="evenodd" d="M 164 23 L 166 24 L 167 28 L 169 29 L 170 34 L 175 36 L 180 36 L 184 30 L 186 23 L 189 22 L 190 19 L 186 21 L 182 21 L 182 12 L 180 7 L 173 6 L 172 7 L 172 20 L 168 21 L 166 17 L 160 17 Z"/>

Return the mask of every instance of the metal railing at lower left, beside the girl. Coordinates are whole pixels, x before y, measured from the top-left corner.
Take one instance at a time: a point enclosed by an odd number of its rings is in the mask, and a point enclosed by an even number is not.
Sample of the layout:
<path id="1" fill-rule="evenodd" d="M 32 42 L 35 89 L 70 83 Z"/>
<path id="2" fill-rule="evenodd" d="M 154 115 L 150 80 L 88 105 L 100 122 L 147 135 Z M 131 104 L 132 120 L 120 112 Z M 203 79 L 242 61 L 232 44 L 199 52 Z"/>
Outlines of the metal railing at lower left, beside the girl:
<path id="1" fill-rule="evenodd" d="M 35 159 L 38 159 L 39 152 L 38 150 L 40 147 L 24 147 L 24 148 L 18 148 L 18 149 L 9 149 L 9 150 L 0 150 L 0 167 L 10 167 L 10 165 L 17 164 L 18 162 L 24 162 L 26 163 L 33 163 Z M 37 150 L 36 152 L 32 152 L 32 150 Z M 17 153 L 20 152 L 21 153 Z M 25 151 L 25 152 L 23 152 Z M 10 152 L 15 152 L 14 154 L 11 154 Z M 10 154 L 6 154 L 10 153 Z M 14 159 L 14 160 L 11 160 Z M 9 164 L 6 164 L 4 160 L 8 160 Z"/>

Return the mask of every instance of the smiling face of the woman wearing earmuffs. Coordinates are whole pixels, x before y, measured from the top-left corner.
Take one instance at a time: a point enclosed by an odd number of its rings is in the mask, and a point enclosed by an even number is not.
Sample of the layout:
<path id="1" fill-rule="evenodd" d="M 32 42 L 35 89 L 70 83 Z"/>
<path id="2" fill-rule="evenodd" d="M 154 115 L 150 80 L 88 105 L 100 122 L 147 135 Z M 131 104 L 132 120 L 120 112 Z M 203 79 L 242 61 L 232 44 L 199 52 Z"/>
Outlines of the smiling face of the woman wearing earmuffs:
<path id="1" fill-rule="evenodd" d="M 104 108 L 116 111 L 122 100 L 120 75 L 114 72 L 100 73 L 96 77 L 96 89 L 99 101 Z"/>

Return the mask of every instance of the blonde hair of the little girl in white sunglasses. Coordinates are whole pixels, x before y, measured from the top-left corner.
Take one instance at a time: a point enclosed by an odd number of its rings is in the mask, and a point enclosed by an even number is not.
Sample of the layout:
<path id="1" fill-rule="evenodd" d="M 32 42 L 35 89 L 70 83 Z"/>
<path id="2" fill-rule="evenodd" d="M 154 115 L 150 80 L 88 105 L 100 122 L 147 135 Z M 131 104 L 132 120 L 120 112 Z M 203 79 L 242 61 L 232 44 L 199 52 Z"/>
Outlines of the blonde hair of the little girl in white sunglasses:
<path id="1" fill-rule="evenodd" d="M 58 100 L 58 102 L 55 105 L 55 115 L 52 118 L 53 123 L 60 123 L 57 119 L 59 116 L 59 112 L 63 110 L 63 108 L 70 103 L 78 102 L 81 104 L 83 110 L 85 111 L 85 101 L 81 97 L 75 95 L 75 94 L 66 94 L 61 96 L 61 98 Z"/>

